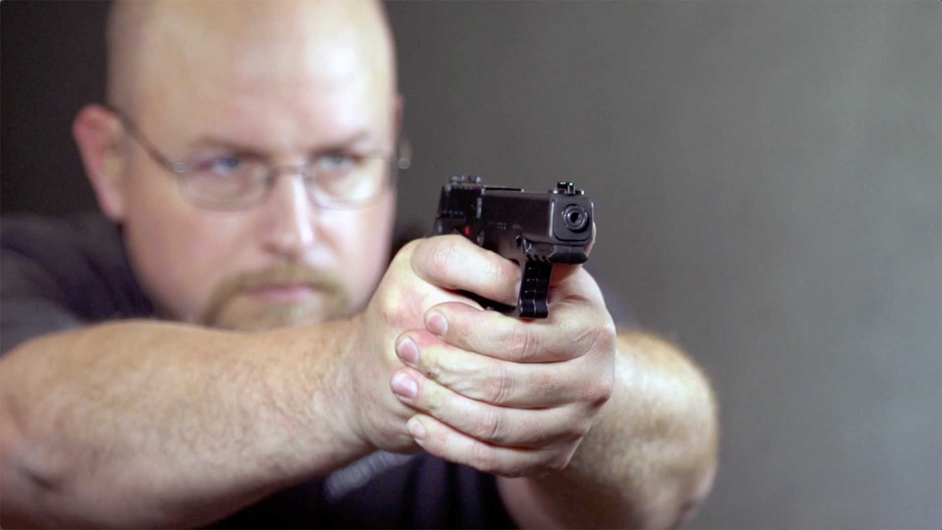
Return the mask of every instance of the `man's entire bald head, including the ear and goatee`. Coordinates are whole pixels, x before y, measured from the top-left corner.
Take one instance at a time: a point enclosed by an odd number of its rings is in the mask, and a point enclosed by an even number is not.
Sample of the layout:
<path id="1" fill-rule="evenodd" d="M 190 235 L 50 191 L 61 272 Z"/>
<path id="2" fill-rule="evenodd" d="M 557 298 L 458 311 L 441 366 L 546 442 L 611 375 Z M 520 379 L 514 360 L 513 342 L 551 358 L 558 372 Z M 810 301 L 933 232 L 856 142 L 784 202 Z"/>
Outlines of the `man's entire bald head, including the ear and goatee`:
<path id="1" fill-rule="evenodd" d="M 316 176 L 284 169 L 389 174 L 379 155 L 396 153 L 401 104 L 382 7 L 135 1 L 113 9 L 108 102 L 140 134 L 97 105 L 83 109 L 73 129 L 154 304 L 181 320 L 211 312 L 245 329 L 268 326 L 271 314 L 294 325 L 364 307 L 385 270 L 395 188 L 363 207 L 332 210 L 317 199 Z M 168 158 L 189 170 L 172 178 L 162 164 Z M 258 161 L 279 169 L 259 203 L 219 212 L 192 201 L 207 183 L 238 192 L 241 181 L 221 177 L 233 164 Z M 345 307 L 331 310 L 338 304 L 319 288 L 289 299 L 246 294 L 240 279 L 284 281 L 272 276 L 283 266 L 336 279 Z M 270 313 L 274 306 L 290 311 Z"/>

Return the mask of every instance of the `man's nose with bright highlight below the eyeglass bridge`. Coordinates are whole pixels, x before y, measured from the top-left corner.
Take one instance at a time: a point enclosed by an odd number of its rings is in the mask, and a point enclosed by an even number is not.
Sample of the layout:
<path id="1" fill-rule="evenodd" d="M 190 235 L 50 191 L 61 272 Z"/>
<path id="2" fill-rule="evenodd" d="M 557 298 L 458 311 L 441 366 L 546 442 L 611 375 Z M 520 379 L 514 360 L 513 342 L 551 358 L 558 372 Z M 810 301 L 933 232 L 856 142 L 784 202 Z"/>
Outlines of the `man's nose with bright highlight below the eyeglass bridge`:
<path id="1" fill-rule="evenodd" d="M 298 171 L 284 171 L 271 185 L 265 208 L 265 247 L 298 260 L 315 241 L 316 212 Z"/>

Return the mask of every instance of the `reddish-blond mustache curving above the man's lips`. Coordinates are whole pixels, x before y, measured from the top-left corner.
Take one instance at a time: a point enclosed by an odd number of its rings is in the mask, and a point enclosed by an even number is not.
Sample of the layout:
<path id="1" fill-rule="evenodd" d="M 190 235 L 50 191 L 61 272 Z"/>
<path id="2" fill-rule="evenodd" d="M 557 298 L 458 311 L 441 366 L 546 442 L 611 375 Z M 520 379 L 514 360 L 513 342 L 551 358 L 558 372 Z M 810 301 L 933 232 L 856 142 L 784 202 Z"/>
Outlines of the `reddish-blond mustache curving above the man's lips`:
<path id="1" fill-rule="evenodd" d="M 310 265 L 289 262 L 224 278 L 213 289 L 201 321 L 211 326 L 222 308 L 233 297 L 258 287 L 279 284 L 310 286 L 327 295 L 332 300 L 330 305 L 337 308 L 343 307 L 348 300 L 347 289 L 340 281 L 339 275 Z"/>

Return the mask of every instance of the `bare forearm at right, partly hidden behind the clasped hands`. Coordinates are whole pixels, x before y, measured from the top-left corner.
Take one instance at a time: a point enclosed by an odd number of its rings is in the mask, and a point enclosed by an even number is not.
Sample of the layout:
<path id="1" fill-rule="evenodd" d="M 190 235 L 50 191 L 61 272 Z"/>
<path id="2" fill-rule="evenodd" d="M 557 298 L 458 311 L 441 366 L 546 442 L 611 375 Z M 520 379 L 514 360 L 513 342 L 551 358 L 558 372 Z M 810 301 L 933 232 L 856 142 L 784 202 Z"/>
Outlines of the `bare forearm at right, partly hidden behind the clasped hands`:
<path id="1" fill-rule="evenodd" d="M 612 397 L 569 466 L 502 478 L 503 497 L 528 500 L 527 511 L 508 506 L 525 526 L 674 527 L 706 499 L 718 428 L 707 379 L 683 353 L 622 333 Z"/>

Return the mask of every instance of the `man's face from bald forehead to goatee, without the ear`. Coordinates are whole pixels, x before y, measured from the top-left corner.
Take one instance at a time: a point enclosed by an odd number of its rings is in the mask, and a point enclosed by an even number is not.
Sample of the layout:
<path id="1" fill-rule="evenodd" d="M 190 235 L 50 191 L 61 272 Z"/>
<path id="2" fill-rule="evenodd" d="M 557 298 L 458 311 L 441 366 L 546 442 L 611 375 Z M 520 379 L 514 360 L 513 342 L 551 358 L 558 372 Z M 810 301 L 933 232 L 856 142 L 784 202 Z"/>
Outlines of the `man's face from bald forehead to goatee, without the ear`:
<path id="1" fill-rule="evenodd" d="M 171 159 L 256 153 L 282 167 L 392 153 L 397 100 L 382 23 L 372 7 L 344 4 L 155 14 L 128 114 Z M 214 6 L 228 12 L 208 13 Z M 171 317 L 233 329 L 316 323 L 361 309 L 382 276 L 394 190 L 328 210 L 285 171 L 261 203 L 212 211 L 185 201 L 177 177 L 139 146 L 129 153 L 119 220 L 138 279 Z"/>

